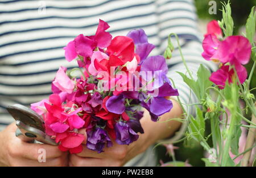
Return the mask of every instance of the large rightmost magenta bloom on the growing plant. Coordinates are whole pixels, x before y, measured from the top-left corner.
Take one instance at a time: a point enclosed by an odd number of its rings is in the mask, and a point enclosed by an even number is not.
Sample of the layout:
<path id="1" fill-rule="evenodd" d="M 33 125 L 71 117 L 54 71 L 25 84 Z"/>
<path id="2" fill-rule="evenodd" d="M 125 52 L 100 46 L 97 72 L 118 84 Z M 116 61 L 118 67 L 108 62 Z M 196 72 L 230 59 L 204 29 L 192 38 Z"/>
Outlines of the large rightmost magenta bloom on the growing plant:
<path id="1" fill-rule="evenodd" d="M 247 64 L 251 56 L 251 44 L 243 36 L 228 36 L 218 47 L 219 60 L 222 63 Z"/>

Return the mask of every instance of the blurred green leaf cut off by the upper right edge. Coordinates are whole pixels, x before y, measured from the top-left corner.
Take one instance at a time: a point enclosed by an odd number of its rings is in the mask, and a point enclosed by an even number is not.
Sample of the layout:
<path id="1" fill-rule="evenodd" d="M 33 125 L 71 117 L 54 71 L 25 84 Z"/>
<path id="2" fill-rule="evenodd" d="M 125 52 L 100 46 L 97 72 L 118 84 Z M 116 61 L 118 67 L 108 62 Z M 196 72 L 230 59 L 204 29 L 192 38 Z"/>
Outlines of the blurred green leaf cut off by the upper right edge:
<path id="1" fill-rule="evenodd" d="M 246 21 L 246 38 L 249 39 L 251 45 L 253 45 L 254 35 L 256 26 L 256 12 L 254 12 L 254 7 L 251 8 L 251 13 Z"/>

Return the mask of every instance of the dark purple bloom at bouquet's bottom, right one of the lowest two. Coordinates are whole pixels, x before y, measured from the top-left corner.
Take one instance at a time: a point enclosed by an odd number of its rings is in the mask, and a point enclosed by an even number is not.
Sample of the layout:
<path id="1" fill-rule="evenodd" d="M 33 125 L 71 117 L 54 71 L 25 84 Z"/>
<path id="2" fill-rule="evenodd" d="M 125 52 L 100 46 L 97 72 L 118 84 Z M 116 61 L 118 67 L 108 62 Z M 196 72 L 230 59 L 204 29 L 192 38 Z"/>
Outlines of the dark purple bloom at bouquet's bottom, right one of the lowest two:
<path id="1" fill-rule="evenodd" d="M 118 144 L 130 144 L 139 138 L 127 123 L 121 121 L 115 124 L 115 135 L 117 136 L 115 142 Z"/>

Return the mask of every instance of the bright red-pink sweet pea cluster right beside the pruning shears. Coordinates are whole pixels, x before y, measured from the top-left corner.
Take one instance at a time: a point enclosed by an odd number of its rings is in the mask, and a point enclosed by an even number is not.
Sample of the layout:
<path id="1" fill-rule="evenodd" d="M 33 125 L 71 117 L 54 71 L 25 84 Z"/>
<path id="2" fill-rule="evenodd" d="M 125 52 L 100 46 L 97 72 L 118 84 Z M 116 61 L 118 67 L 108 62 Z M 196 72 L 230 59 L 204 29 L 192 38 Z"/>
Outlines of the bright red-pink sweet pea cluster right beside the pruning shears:
<path id="1" fill-rule="evenodd" d="M 75 133 L 74 129 L 80 129 L 85 124 L 85 121 L 77 115 L 82 108 L 73 109 L 72 101 L 62 104 L 58 94 L 51 94 L 49 102 L 50 104 L 44 104 L 48 111 L 44 117 L 46 133 L 55 137 L 56 143 L 60 142 L 60 150 L 69 150 L 71 153 L 81 152 L 84 136 Z"/>

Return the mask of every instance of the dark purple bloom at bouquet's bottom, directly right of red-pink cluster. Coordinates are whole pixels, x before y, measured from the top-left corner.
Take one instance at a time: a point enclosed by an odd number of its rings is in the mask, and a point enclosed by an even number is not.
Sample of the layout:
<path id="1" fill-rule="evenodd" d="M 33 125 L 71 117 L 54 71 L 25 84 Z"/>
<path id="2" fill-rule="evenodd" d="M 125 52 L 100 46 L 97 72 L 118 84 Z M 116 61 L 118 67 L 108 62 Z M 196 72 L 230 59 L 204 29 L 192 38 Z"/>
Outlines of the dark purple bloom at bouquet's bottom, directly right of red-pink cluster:
<path id="1" fill-rule="evenodd" d="M 108 134 L 105 130 L 97 127 L 96 130 L 89 130 L 87 132 L 86 147 L 90 150 L 97 151 L 98 153 L 103 152 L 105 143 L 107 147 L 113 146 Z"/>

